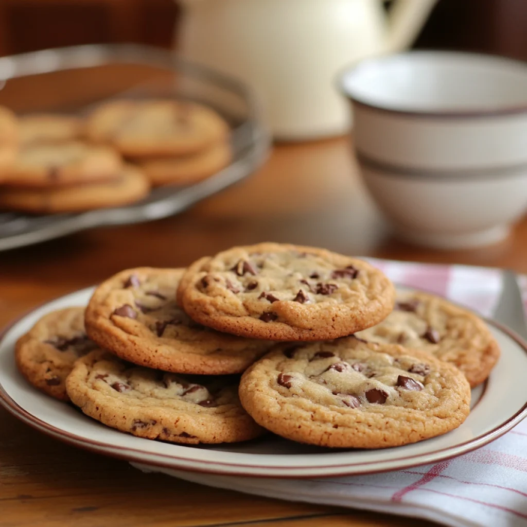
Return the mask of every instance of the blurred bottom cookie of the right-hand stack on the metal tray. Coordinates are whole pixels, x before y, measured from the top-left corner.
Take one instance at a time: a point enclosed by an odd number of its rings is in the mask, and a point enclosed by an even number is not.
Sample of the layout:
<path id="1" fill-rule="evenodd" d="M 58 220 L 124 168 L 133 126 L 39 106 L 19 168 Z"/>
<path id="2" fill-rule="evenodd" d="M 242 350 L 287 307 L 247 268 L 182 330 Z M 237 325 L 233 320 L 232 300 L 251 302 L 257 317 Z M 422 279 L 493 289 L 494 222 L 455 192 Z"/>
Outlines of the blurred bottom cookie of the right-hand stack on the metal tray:
<path id="1" fill-rule="evenodd" d="M 232 158 L 227 142 L 213 144 L 202 152 L 174 158 L 139 160 L 152 186 L 188 185 L 206 179 L 227 167 Z"/>

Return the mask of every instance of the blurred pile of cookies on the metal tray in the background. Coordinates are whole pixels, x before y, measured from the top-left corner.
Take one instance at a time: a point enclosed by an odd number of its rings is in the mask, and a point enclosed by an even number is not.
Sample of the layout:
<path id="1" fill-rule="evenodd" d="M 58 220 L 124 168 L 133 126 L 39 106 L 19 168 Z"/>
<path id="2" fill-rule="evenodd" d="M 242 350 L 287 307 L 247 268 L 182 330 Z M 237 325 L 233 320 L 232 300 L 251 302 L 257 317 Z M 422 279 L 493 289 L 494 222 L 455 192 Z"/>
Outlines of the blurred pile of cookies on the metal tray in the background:
<path id="1" fill-rule="evenodd" d="M 118 207 L 152 186 L 189 184 L 230 162 L 229 126 L 178 101 L 114 101 L 85 120 L 17 118 L 0 108 L 0 208 L 31 213 Z"/>

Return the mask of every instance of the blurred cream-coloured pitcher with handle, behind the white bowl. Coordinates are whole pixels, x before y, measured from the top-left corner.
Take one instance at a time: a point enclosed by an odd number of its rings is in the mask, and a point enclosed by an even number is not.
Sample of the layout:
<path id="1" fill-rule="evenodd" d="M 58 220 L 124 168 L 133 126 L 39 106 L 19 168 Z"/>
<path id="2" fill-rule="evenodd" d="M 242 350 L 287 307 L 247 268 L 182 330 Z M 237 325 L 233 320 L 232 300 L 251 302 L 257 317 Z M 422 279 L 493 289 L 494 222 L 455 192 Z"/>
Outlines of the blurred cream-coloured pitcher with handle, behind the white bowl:
<path id="1" fill-rule="evenodd" d="M 344 66 L 403 50 L 436 0 L 183 0 L 179 49 L 236 75 L 264 102 L 277 138 L 344 133 L 349 110 L 335 87 Z"/>

